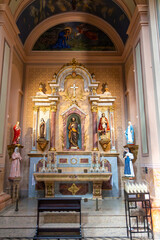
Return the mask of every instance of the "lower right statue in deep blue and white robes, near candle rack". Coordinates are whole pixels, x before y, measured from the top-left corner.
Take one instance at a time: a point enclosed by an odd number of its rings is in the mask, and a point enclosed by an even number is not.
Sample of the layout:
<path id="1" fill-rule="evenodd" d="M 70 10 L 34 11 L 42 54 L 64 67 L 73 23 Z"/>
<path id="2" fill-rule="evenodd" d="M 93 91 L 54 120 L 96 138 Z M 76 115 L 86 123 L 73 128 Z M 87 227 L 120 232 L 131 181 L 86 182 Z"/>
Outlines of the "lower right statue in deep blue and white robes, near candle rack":
<path id="1" fill-rule="evenodd" d="M 133 163 L 132 159 L 134 159 L 134 156 L 132 153 L 129 152 L 129 148 L 125 148 L 123 153 L 123 158 L 125 160 L 125 166 L 124 166 L 124 175 L 125 177 L 134 177 L 134 169 L 133 169 Z"/>

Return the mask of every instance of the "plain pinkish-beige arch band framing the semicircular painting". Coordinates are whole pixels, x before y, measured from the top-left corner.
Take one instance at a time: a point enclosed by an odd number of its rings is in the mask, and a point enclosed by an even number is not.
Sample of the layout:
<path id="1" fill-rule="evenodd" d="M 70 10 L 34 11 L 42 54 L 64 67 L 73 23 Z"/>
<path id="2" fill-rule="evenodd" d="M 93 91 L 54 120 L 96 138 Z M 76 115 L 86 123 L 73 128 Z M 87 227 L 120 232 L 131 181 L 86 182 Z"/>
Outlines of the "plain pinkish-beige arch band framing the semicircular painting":
<path id="1" fill-rule="evenodd" d="M 105 20 L 101 19 L 100 17 L 94 16 L 89 13 L 82 13 L 82 12 L 73 12 L 73 13 L 61 13 L 55 16 L 52 16 L 50 18 L 47 18 L 45 21 L 38 24 L 32 32 L 27 37 L 24 49 L 27 54 L 30 54 L 32 51 L 32 48 L 37 41 L 37 39 L 49 28 L 54 27 L 61 23 L 67 23 L 67 22 L 83 22 L 91 24 L 101 31 L 103 31 L 105 34 L 108 35 L 108 37 L 111 39 L 111 41 L 114 43 L 116 49 L 117 49 L 117 55 L 122 54 L 124 49 L 124 44 L 119 36 L 119 34 L 116 32 L 116 30 Z"/>

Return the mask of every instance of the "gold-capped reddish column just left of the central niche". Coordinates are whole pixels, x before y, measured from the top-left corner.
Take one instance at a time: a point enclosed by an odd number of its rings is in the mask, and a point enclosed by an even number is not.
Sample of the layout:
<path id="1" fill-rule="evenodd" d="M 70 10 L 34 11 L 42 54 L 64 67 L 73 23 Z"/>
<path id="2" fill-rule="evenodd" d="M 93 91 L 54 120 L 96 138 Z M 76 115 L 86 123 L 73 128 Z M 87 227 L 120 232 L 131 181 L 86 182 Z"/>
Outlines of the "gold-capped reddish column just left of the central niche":
<path id="1" fill-rule="evenodd" d="M 51 120 L 50 151 L 56 151 L 56 149 L 55 149 L 56 111 L 57 111 L 57 106 L 52 105 L 50 107 L 50 120 Z"/>

